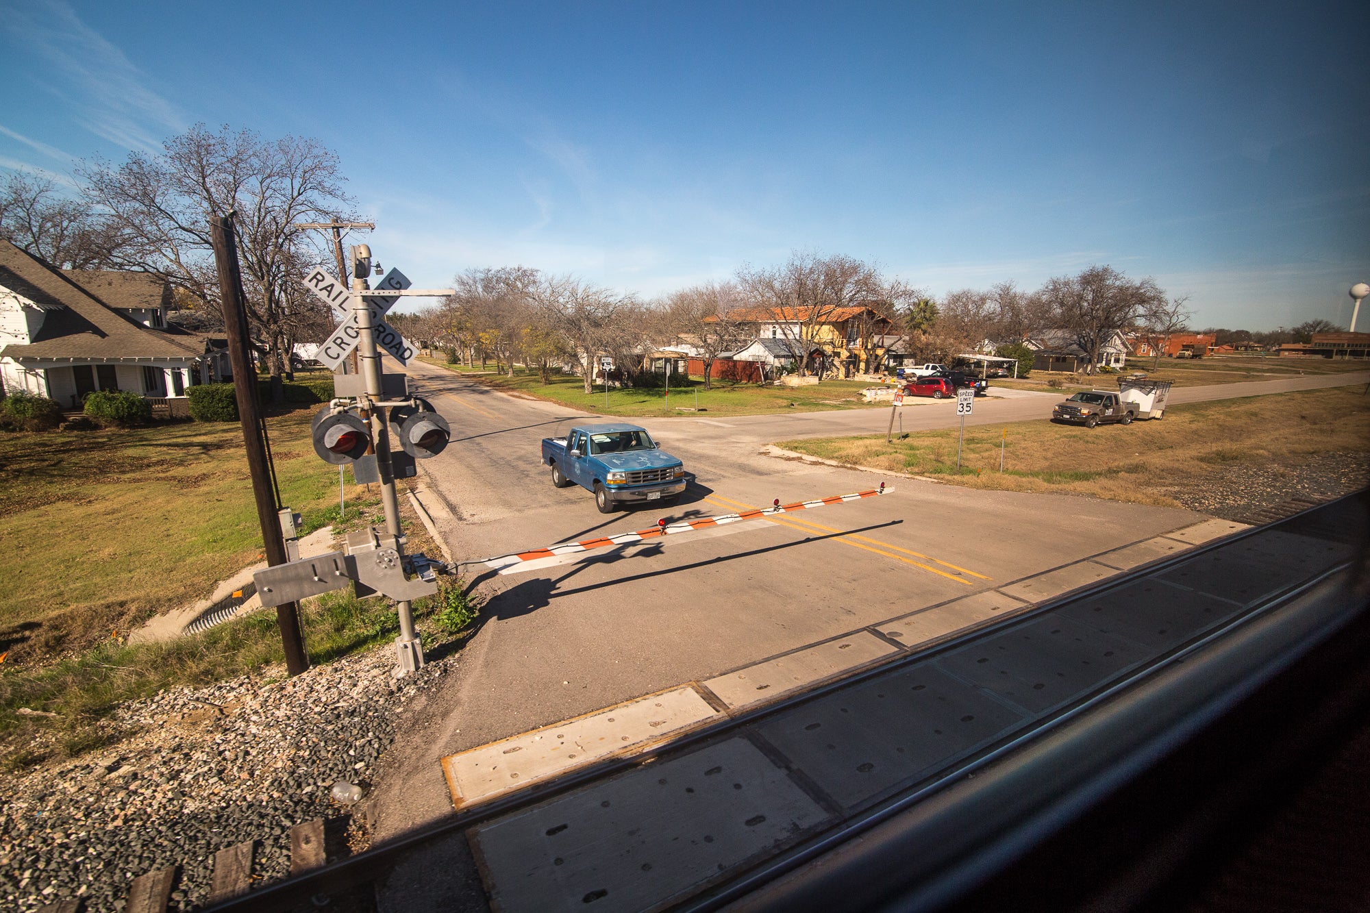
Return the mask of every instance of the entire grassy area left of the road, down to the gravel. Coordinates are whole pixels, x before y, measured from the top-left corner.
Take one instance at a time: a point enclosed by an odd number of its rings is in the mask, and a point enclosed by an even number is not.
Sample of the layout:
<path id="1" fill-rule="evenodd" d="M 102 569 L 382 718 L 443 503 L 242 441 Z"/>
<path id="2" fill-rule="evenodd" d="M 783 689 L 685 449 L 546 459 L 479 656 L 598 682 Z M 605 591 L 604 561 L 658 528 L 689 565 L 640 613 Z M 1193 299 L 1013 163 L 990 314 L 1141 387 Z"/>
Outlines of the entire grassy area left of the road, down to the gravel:
<path id="1" fill-rule="evenodd" d="M 301 402 L 267 418 L 281 498 L 306 531 L 338 524 L 337 466 L 310 441 L 315 409 Z M 347 478 L 341 525 L 382 522 L 378 499 Z M 406 499 L 400 510 L 410 550 L 437 554 Z M 255 563 L 260 543 L 238 422 L 0 433 L 0 766 L 118 739 L 108 714 L 121 701 L 279 664 L 274 611 L 173 643 L 126 640 L 152 614 L 206 598 Z M 451 639 L 456 631 L 440 631 L 429 603 L 415 603 L 426 640 Z M 386 600 L 349 589 L 307 600 L 301 621 L 315 664 L 397 632 Z"/>

